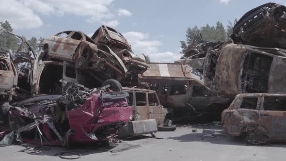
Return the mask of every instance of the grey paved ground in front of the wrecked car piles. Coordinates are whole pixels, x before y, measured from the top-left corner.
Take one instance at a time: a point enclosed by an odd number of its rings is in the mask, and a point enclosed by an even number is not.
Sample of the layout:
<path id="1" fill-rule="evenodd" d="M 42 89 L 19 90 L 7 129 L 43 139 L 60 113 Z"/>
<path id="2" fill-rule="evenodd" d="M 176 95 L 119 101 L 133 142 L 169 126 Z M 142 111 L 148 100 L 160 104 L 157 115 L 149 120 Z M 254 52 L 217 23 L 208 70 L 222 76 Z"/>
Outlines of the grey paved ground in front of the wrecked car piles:
<path id="1" fill-rule="evenodd" d="M 197 129 L 197 132 L 192 132 Z M 73 148 L 81 154 L 77 161 L 284 161 L 286 144 L 245 145 L 242 140 L 224 133 L 217 125 L 181 126 L 175 132 L 157 132 L 151 135 L 124 140 L 121 145 L 140 145 L 117 153 L 111 147 Z M 66 151 L 51 147 L 36 153 L 21 152 L 24 145 L 0 147 L 0 161 L 63 161 L 55 153 Z"/>

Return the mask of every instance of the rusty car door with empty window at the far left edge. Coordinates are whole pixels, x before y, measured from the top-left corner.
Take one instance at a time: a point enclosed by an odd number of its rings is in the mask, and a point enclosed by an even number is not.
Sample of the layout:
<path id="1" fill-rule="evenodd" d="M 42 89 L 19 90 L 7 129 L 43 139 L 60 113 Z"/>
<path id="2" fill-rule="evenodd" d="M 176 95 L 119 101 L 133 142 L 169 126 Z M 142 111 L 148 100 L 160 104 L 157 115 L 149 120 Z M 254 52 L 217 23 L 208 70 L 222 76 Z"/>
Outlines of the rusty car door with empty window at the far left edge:
<path id="1" fill-rule="evenodd" d="M 12 62 L 0 58 L 0 93 L 17 85 L 16 70 Z"/>

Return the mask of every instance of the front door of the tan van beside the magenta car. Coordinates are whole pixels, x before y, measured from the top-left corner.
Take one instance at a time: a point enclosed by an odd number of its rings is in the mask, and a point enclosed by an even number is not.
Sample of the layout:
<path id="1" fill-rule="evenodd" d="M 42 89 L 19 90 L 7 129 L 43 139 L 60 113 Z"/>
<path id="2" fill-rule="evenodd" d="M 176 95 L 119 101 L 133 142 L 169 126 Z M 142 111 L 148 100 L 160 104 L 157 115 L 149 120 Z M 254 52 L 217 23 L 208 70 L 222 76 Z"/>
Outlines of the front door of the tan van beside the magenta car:
<path id="1" fill-rule="evenodd" d="M 159 104 L 156 93 L 148 93 L 148 114 L 149 119 L 156 119 L 158 125 L 163 124 L 162 108 Z"/>

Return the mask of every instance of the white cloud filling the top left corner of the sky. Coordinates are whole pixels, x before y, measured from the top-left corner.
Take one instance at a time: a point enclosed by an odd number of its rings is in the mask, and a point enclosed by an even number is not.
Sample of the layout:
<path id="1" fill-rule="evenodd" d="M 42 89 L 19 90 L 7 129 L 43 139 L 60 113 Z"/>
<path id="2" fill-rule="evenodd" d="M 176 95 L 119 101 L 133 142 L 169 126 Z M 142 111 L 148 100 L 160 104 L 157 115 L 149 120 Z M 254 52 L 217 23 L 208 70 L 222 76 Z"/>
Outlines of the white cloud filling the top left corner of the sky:
<path id="1" fill-rule="evenodd" d="M 43 25 L 32 9 L 16 0 L 0 0 L 0 20 L 9 21 L 14 29 L 32 29 Z"/>

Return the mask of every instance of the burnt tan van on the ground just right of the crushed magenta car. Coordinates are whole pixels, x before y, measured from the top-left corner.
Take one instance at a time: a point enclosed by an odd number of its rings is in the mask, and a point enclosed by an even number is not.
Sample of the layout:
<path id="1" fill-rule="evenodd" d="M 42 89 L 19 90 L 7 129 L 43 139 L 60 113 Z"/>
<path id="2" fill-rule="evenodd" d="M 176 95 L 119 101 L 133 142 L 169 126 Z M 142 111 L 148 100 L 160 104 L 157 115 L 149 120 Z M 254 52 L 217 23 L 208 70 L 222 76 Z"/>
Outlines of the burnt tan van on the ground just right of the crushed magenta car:
<path id="1" fill-rule="evenodd" d="M 155 91 L 128 87 L 123 87 L 123 91 L 129 94 L 128 106 L 133 109 L 134 120 L 155 119 L 157 125 L 162 125 L 165 116 L 171 118 L 171 113 L 161 106 Z"/>

